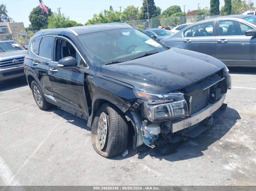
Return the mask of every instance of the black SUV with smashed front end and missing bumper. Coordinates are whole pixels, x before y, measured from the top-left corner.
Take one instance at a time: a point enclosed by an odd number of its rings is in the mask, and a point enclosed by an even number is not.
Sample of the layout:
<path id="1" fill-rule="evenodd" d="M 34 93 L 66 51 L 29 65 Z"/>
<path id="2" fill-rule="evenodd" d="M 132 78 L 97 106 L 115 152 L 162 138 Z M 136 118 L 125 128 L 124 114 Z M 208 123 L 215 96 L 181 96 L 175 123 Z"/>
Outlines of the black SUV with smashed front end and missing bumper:
<path id="1" fill-rule="evenodd" d="M 120 23 L 35 33 L 25 74 L 38 107 L 87 119 L 93 148 L 107 158 L 125 151 L 129 129 L 134 149 L 199 135 L 224 113 L 231 88 L 218 59 Z"/>

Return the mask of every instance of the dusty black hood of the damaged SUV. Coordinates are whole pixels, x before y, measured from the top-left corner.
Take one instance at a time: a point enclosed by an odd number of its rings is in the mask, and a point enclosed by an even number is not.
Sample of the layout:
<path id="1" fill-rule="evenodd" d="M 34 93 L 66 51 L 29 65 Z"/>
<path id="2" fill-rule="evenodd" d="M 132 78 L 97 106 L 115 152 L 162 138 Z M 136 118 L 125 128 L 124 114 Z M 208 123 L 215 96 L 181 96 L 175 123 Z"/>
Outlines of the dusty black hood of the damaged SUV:
<path id="1" fill-rule="evenodd" d="M 102 65 L 103 76 L 152 93 L 168 93 L 224 68 L 218 59 L 184 49 L 171 48 L 161 53 L 112 65 Z"/>

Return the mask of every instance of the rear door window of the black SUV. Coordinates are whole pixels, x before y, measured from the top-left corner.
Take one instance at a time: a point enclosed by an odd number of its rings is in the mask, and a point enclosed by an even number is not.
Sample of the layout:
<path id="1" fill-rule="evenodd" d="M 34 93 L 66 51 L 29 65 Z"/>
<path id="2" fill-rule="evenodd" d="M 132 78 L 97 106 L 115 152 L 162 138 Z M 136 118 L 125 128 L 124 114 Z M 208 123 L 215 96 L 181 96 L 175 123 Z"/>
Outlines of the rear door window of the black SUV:
<path id="1" fill-rule="evenodd" d="M 39 56 L 52 59 L 52 50 L 54 46 L 54 37 L 43 37 L 39 46 Z"/>

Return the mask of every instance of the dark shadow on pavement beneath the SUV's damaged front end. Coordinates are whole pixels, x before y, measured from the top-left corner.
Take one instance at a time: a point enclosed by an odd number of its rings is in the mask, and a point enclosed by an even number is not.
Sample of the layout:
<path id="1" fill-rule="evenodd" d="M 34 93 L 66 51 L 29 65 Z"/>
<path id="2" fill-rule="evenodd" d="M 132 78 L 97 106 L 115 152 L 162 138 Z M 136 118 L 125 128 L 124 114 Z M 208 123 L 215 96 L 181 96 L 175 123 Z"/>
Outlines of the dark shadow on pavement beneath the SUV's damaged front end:
<path id="1" fill-rule="evenodd" d="M 205 132 L 201 133 L 198 137 L 188 138 L 185 142 L 180 142 L 176 144 L 169 144 L 169 147 L 165 147 L 163 149 L 167 149 L 169 155 L 157 157 L 151 155 L 151 148 L 148 150 L 138 153 L 138 159 L 143 159 L 147 155 L 150 155 L 153 159 L 166 161 L 182 161 L 191 158 L 197 158 L 203 156 L 203 152 L 208 149 L 210 145 L 214 142 L 221 139 L 237 122 L 238 119 L 241 119 L 238 112 L 230 107 L 227 107 L 225 115 L 217 121 L 214 126 L 211 126 Z M 128 143 L 128 155 L 125 157 L 117 156 L 114 158 L 110 158 L 112 160 L 122 160 L 124 158 L 130 158 L 136 155 L 136 151 L 132 148 L 132 142 Z"/>

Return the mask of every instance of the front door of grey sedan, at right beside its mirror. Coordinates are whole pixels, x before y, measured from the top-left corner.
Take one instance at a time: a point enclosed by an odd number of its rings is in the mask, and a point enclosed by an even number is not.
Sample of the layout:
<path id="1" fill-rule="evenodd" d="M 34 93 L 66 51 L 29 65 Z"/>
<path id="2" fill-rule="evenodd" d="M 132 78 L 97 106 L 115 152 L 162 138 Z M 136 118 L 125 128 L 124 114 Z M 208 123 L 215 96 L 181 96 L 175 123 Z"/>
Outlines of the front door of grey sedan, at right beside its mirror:
<path id="1" fill-rule="evenodd" d="M 256 64 L 256 37 L 245 36 L 245 31 L 254 29 L 236 20 L 218 21 L 216 57 L 230 66 Z"/>

